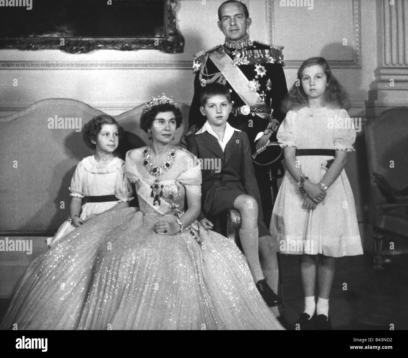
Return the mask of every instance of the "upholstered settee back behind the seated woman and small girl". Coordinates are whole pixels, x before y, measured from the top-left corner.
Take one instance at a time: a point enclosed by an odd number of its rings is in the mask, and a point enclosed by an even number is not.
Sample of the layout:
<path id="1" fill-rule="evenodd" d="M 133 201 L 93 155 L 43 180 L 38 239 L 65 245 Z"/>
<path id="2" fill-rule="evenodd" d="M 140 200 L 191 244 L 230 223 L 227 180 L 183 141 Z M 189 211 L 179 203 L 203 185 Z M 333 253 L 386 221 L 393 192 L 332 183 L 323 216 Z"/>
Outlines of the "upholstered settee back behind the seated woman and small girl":
<path id="1" fill-rule="evenodd" d="M 186 123 L 188 106 L 179 106 Z M 140 129 L 142 109 L 113 116 L 126 130 L 118 148 L 120 157 L 149 143 Z M 0 118 L 0 234 L 53 232 L 69 217 L 71 177 L 78 162 L 92 154 L 81 129 L 99 114 L 103 113 L 73 99 L 45 99 Z M 59 118 L 64 118 L 67 128 L 58 128 Z M 177 129 L 176 145 L 186 127 Z"/>

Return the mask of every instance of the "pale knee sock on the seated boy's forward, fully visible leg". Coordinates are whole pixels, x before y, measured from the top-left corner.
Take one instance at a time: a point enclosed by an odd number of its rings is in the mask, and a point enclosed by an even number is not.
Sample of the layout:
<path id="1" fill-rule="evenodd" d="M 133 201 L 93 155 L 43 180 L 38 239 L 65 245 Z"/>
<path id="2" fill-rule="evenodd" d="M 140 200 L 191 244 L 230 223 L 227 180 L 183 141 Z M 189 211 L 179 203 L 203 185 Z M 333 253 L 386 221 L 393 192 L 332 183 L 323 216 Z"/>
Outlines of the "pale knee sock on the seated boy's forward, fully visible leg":
<path id="1" fill-rule="evenodd" d="M 264 279 L 261 264 L 259 263 L 258 228 L 250 230 L 239 229 L 239 237 L 252 276 L 255 283 L 257 283 L 259 280 Z"/>

